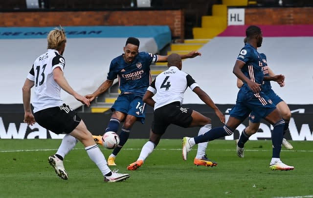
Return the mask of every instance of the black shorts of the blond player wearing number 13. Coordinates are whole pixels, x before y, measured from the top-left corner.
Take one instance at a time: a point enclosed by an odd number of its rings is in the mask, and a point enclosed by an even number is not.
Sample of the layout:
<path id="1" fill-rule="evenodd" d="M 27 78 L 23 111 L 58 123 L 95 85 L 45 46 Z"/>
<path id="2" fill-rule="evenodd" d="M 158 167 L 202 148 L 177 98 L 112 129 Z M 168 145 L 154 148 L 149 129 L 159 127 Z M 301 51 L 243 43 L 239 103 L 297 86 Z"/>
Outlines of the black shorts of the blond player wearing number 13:
<path id="1" fill-rule="evenodd" d="M 82 120 L 77 112 L 63 104 L 34 113 L 36 122 L 55 134 L 72 132 Z"/>

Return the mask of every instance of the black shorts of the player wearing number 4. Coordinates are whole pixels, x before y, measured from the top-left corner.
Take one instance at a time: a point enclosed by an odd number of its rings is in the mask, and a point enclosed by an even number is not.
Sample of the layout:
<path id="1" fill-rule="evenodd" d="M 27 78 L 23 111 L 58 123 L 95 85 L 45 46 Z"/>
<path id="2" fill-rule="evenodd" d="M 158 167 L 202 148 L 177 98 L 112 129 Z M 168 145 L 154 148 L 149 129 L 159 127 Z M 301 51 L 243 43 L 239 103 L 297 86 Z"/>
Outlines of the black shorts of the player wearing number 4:
<path id="1" fill-rule="evenodd" d="M 164 134 L 170 124 L 187 128 L 192 122 L 192 111 L 192 109 L 181 107 L 179 102 L 172 102 L 157 108 L 154 112 L 151 130 L 155 134 Z"/>

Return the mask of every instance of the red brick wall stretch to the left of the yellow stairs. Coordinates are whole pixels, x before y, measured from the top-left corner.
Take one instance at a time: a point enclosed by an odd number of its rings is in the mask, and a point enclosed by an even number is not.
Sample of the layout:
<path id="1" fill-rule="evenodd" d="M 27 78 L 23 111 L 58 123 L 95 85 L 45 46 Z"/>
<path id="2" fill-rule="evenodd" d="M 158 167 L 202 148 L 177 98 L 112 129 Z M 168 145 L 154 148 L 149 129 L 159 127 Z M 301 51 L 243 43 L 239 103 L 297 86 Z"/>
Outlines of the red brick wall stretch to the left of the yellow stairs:
<path id="1" fill-rule="evenodd" d="M 0 12 L 0 27 L 168 25 L 184 39 L 183 10 Z"/>

